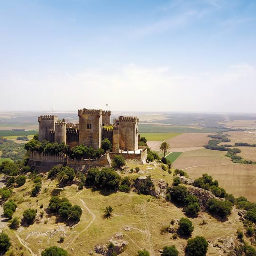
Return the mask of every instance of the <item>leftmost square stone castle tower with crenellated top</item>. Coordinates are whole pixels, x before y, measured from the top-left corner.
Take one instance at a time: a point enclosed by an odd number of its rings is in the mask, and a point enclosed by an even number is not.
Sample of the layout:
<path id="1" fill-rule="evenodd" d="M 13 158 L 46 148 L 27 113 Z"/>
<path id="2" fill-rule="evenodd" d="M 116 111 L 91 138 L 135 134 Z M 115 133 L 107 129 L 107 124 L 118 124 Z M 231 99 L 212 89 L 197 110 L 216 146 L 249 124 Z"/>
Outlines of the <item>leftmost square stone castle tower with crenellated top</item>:
<path id="1" fill-rule="evenodd" d="M 58 116 L 46 115 L 38 117 L 39 130 L 38 130 L 38 140 L 42 141 L 44 139 L 54 142 L 54 137 L 51 136 L 51 131 L 55 130 L 55 122 Z"/>

